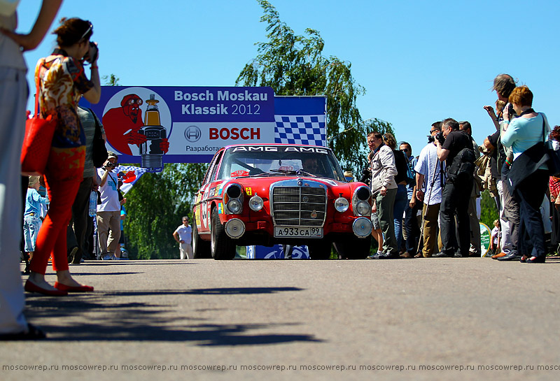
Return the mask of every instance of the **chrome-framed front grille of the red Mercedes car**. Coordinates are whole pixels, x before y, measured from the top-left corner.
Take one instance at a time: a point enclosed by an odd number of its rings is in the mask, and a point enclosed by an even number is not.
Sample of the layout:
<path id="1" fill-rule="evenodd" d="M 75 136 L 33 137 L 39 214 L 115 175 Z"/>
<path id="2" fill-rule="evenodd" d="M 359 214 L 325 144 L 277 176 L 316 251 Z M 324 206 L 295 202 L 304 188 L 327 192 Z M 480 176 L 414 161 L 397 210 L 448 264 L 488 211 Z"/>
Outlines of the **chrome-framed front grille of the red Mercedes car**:
<path id="1" fill-rule="evenodd" d="M 327 192 L 322 187 L 274 187 L 272 215 L 276 226 L 321 227 Z"/>

